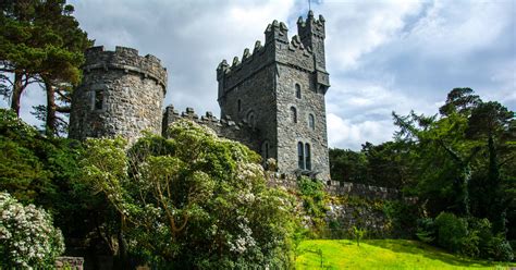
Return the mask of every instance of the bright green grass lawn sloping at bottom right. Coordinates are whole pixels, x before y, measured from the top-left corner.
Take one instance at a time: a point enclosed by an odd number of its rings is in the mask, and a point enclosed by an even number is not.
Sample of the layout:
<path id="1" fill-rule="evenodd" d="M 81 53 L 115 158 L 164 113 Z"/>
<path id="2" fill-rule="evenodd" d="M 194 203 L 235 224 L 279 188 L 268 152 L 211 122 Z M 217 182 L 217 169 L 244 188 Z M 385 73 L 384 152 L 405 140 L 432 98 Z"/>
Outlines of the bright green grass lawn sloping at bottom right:
<path id="1" fill-rule="evenodd" d="M 460 258 L 417 241 L 366 240 L 358 247 L 348 240 L 311 240 L 297 249 L 296 269 L 507 269 Z M 512 263 L 516 267 L 516 263 Z"/>

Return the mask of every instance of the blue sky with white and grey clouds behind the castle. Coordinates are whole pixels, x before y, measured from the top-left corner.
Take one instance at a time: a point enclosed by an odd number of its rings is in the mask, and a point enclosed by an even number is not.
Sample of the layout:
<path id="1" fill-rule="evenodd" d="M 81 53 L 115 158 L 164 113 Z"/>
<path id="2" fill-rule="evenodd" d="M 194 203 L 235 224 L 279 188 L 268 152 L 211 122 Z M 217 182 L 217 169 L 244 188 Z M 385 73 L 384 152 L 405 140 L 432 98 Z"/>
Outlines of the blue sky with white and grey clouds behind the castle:
<path id="1" fill-rule="evenodd" d="M 434 114 L 454 87 L 516 110 L 516 1 L 311 1 L 327 21 L 331 147 L 358 150 L 392 138 L 391 112 Z M 169 71 L 165 105 L 219 114 L 216 68 L 242 58 L 274 19 L 296 35 L 308 0 L 74 0 L 89 38 L 160 58 Z M 23 118 L 35 123 L 23 96 Z M 5 101 L 1 103 L 5 106 Z"/>

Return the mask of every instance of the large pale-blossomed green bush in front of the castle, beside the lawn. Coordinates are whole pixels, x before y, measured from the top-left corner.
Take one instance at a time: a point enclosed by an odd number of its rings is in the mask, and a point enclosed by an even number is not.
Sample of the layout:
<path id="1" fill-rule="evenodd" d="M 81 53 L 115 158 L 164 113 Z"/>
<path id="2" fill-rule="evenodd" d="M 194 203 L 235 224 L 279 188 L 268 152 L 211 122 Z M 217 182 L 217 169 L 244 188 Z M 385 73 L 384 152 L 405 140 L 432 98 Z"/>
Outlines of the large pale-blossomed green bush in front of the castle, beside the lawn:
<path id="1" fill-rule="evenodd" d="M 179 121 L 169 139 L 89 139 L 84 179 L 120 214 L 127 253 L 169 268 L 290 268 L 292 198 L 259 156 Z"/>

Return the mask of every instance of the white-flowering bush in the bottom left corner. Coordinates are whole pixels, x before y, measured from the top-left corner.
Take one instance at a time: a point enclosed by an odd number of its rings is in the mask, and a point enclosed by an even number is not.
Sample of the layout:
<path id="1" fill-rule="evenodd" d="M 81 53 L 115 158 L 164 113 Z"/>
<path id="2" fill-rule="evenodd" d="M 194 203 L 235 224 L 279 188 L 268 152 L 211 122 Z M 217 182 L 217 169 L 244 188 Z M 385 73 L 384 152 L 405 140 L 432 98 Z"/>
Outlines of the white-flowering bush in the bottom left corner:
<path id="1" fill-rule="evenodd" d="M 0 192 L 0 269 L 51 268 L 63 251 L 63 236 L 49 213 Z"/>

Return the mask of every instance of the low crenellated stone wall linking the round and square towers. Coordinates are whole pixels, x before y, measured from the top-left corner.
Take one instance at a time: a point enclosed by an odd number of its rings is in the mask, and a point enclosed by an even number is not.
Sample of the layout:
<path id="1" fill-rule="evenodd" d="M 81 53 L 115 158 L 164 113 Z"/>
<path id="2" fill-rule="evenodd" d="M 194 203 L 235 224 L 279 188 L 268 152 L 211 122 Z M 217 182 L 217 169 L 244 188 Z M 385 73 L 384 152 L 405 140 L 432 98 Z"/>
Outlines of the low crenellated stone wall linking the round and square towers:
<path id="1" fill-rule="evenodd" d="M 225 115 L 223 119 L 217 119 L 210 111 L 199 116 L 191 107 L 187 107 L 186 110 L 181 113 L 175 110 L 172 105 L 165 108 L 162 124 L 163 136 L 167 136 L 167 128 L 180 119 L 194 121 L 197 124 L 210 127 L 219 137 L 241 142 L 253 150 L 258 149 L 256 138 L 258 138 L 259 132 L 246 121 L 237 123 L 233 121 L 230 115 Z"/>

